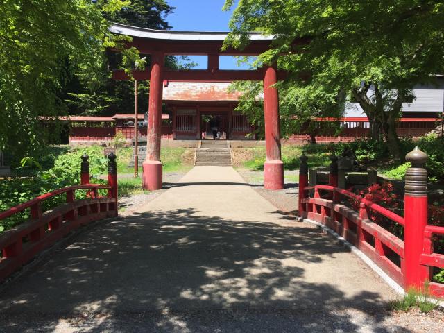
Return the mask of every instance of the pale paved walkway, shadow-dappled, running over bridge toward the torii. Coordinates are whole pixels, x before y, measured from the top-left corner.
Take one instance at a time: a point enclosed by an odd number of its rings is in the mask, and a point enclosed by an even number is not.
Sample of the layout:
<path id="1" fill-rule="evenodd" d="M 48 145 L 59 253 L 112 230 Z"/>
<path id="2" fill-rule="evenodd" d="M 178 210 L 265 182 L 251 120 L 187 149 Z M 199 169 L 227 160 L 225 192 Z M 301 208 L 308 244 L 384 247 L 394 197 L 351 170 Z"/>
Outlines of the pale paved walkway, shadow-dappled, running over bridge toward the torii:
<path id="1" fill-rule="evenodd" d="M 0 332 L 409 332 L 381 324 L 394 297 L 232 167 L 194 167 L 3 288 Z"/>

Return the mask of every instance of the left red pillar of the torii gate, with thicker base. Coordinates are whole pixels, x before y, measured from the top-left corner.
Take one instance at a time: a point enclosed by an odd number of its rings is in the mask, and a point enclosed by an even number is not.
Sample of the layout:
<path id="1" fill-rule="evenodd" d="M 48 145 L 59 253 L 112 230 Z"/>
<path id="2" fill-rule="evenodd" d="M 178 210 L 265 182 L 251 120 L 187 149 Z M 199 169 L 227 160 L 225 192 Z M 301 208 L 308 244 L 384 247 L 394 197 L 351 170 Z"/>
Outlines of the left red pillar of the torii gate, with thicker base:
<path id="1" fill-rule="evenodd" d="M 162 72 L 164 54 L 151 54 L 150 98 L 146 137 L 146 160 L 142 164 L 142 187 L 149 191 L 162 189 L 162 162 L 160 162 L 160 138 L 162 131 Z"/>

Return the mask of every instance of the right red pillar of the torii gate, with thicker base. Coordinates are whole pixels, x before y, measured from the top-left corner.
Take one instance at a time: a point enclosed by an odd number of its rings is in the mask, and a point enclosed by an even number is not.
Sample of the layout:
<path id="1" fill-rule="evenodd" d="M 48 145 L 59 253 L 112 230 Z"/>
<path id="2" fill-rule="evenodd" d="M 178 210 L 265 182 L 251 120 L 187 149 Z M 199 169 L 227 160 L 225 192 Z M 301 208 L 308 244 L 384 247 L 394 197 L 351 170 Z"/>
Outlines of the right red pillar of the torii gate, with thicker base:
<path id="1" fill-rule="evenodd" d="M 264 187 L 284 188 L 284 164 L 280 155 L 280 121 L 278 89 L 271 87 L 278 82 L 276 68 L 266 67 L 264 77 L 264 118 L 266 162 L 264 164 Z"/>

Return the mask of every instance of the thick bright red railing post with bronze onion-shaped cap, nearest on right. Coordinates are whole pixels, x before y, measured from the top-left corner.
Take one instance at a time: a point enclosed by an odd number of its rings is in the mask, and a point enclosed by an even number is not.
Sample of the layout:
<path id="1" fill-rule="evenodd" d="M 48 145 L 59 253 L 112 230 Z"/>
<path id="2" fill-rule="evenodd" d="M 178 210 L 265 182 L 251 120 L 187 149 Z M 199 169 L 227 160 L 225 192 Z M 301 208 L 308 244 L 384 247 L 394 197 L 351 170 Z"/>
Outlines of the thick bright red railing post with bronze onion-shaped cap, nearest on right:
<path id="1" fill-rule="evenodd" d="M 405 174 L 404 289 L 422 289 L 431 276 L 431 268 L 420 264 L 427 226 L 427 170 L 424 165 L 428 156 L 416 146 L 405 159 L 411 167 Z"/>

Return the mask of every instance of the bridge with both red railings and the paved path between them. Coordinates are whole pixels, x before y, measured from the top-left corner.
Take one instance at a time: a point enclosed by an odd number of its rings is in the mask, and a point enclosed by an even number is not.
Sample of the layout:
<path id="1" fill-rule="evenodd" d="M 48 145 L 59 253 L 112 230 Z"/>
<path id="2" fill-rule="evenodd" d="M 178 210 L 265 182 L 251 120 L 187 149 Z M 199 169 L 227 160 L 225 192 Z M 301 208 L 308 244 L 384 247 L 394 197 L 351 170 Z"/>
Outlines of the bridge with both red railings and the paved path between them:
<path id="1" fill-rule="evenodd" d="M 413 167 L 399 216 L 339 189 L 335 159 L 330 185 L 307 187 L 302 155 L 300 219 L 341 235 L 391 287 L 422 288 L 432 268 L 444 267 L 433 248 L 444 228 L 427 225 L 425 158 L 418 150 L 407 156 Z M 393 323 L 381 323 L 396 298 L 389 284 L 318 228 L 276 211 L 232 167 L 194 167 L 119 217 L 115 156 L 108 185 L 90 184 L 88 169 L 84 156 L 80 185 L 1 213 L 31 210 L 29 221 L 0 235 L 2 332 L 233 332 L 234 322 L 242 332 L 391 332 Z M 67 202 L 42 212 L 56 196 Z M 404 237 L 373 221 L 375 214 Z M 444 296 L 443 284 L 429 287 Z"/>

